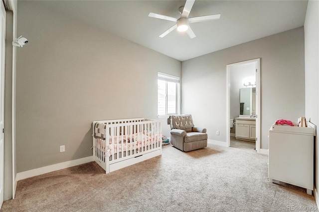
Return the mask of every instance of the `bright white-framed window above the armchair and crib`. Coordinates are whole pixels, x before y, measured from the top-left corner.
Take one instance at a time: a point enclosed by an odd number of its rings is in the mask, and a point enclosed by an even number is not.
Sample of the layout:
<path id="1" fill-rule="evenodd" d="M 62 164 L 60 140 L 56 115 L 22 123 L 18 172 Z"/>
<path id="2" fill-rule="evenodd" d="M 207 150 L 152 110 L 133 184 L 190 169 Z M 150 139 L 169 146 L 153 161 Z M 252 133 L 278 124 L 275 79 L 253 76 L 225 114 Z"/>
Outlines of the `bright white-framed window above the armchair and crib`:
<path id="1" fill-rule="evenodd" d="M 179 77 L 159 72 L 158 115 L 176 113 L 179 113 Z"/>

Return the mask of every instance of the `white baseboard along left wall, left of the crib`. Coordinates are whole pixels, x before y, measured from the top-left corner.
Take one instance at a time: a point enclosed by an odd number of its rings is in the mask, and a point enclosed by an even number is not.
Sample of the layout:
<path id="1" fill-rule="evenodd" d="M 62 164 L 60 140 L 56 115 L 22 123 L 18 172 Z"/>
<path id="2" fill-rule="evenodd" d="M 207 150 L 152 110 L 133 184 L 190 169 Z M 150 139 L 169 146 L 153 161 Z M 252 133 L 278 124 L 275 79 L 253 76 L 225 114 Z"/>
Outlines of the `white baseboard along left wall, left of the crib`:
<path id="1" fill-rule="evenodd" d="M 19 172 L 16 174 L 15 176 L 15 183 L 19 180 L 23 180 L 26 178 L 31 178 L 34 176 L 38 176 L 38 175 L 43 175 L 49 172 L 54 172 L 57 170 L 61 170 L 61 169 L 65 169 L 65 168 L 69 168 L 69 167 L 73 167 L 73 166 L 77 166 L 77 165 L 81 165 L 81 164 L 85 164 L 85 163 L 89 163 L 93 161 L 93 156 L 89 156 L 86 158 L 80 158 L 77 160 L 73 160 L 73 161 L 67 161 L 67 162 L 63 162 L 63 163 L 59 163 L 59 164 L 54 164 L 54 165 L 50 165 L 50 166 L 46 166 L 46 167 L 41 167 L 38 169 L 32 169 L 32 170 L 28 170 L 25 172 Z"/>

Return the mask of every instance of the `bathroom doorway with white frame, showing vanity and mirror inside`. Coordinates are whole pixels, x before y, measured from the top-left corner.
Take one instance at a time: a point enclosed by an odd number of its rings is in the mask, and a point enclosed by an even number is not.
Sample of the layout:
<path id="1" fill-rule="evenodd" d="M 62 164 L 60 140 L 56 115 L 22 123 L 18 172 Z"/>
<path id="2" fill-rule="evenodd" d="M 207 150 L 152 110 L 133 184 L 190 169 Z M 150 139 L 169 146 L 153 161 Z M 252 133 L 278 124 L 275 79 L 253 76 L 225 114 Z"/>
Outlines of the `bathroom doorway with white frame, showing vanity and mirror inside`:
<path id="1" fill-rule="evenodd" d="M 226 145 L 260 153 L 260 58 L 228 64 L 226 85 Z"/>

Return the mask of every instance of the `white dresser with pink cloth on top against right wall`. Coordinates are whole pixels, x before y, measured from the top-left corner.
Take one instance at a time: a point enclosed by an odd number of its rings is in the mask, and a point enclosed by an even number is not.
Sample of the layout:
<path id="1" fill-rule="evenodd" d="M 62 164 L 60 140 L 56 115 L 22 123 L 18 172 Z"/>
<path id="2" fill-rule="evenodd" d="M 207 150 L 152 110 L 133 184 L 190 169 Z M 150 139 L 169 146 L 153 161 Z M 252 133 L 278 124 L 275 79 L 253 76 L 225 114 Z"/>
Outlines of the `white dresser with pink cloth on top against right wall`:
<path id="1" fill-rule="evenodd" d="M 316 125 L 308 127 L 272 125 L 269 129 L 269 182 L 278 180 L 314 191 L 314 136 Z"/>

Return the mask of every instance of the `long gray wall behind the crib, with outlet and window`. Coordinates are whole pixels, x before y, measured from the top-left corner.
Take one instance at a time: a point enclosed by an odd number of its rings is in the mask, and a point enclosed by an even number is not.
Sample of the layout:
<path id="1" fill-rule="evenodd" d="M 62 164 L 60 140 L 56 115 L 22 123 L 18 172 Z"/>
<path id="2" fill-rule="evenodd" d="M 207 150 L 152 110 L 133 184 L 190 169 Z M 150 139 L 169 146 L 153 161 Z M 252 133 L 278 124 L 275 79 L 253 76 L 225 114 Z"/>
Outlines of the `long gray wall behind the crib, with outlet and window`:
<path id="1" fill-rule="evenodd" d="M 18 34 L 17 172 L 92 156 L 94 120 L 156 119 L 158 71 L 180 76 L 180 61 L 36 1 L 18 1 Z"/>

